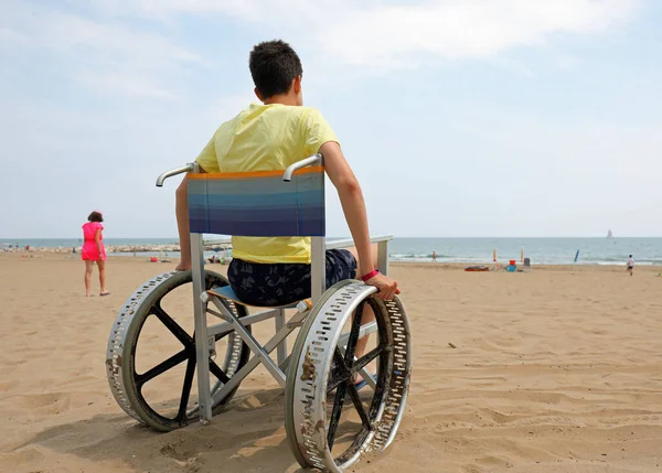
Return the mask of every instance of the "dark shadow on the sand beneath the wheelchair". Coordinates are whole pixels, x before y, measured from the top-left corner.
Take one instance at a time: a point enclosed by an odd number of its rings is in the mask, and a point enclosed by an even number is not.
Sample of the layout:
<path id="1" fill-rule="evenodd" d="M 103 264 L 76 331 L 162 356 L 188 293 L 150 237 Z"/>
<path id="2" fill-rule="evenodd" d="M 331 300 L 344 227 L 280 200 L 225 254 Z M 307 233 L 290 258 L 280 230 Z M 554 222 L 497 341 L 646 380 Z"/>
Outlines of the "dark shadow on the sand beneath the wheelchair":
<path id="1" fill-rule="evenodd" d="M 303 472 L 285 433 L 281 389 L 241 394 L 209 426 L 160 433 L 124 412 L 52 427 L 19 449 L 39 445 L 140 472 Z"/>

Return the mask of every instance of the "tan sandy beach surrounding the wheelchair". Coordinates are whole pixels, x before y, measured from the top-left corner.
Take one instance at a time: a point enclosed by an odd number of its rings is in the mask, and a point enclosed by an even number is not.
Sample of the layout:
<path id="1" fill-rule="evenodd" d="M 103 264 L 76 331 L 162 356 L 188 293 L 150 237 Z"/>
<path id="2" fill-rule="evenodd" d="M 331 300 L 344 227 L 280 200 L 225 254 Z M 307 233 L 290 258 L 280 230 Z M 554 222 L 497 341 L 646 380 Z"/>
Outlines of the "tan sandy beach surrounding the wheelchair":
<path id="1" fill-rule="evenodd" d="M 172 266 L 110 258 L 111 295 L 86 299 L 81 261 L 0 254 L 0 471 L 299 471 L 281 390 L 264 372 L 207 427 L 157 433 L 116 405 L 110 325 L 139 283 Z M 413 327 L 409 402 L 392 448 L 353 471 L 662 471 L 655 272 L 394 265 Z"/>

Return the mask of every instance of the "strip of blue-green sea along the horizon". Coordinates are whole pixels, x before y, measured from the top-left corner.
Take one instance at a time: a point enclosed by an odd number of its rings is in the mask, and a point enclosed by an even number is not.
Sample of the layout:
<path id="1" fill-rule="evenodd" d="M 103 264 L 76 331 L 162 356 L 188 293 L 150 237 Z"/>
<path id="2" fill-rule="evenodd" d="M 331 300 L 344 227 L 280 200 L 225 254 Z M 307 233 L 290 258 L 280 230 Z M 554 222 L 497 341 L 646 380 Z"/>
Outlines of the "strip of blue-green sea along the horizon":
<path id="1" fill-rule="evenodd" d="M 105 238 L 104 241 L 118 246 L 178 243 L 177 238 Z M 9 245 L 72 248 L 81 244 L 78 238 L 0 238 L 0 249 Z M 662 265 L 662 238 L 395 238 L 388 247 L 393 261 L 413 262 L 429 262 L 435 251 L 438 262 L 488 264 L 492 262 L 494 250 L 500 262 L 520 261 L 523 251 L 534 265 L 624 265 L 629 255 L 633 255 L 638 265 Z M 134 257 L 134 254 L 121 255 Z M 205 251 L 205 257 L 211 255 L 214 251 Z M 137 254 L 146 256 L 159 252 Z M 177 258 L 179 252 L 170 251 L 167 256 Z"/>

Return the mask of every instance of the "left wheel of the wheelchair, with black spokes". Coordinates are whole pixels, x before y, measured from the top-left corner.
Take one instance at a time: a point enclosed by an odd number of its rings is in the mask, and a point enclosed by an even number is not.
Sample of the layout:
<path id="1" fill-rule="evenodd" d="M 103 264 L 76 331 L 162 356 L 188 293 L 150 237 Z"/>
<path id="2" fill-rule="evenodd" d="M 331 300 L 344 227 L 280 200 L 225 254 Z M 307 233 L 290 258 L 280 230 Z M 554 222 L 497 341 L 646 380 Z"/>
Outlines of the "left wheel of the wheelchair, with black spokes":
<path id="1" fill-rule="evenodd" d="M 129 416 L 160 431 L 199 419 L 191 283 L 191 271 L 150 279 L 127 300 L 108 338 L 106 368 L 115 399 Z M 205 271 L 206 289 L 227 283 L 223 276 Z M 248 313 L 244 305 L 229 307 L 238 316 Z M 212 348 L 217 354 L 210 357 L 213 395 L 250 353 L 234 332 L 216 335 Z M 223 410 L 235 391 L 215 400 L 212 412 Z"/>

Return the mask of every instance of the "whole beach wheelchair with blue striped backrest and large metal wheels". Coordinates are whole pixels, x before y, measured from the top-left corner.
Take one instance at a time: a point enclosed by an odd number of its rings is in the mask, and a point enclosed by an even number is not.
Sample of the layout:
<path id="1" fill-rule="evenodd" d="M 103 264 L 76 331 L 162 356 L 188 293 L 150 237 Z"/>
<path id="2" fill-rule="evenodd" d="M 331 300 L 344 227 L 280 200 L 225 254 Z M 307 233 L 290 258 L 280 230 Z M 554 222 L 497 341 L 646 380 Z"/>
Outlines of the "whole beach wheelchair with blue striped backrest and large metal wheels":
<path id="1" fill-rule="evenodd" d="M 207 174 L 188 164 L 162 173 L 157 186 L 181 173 L 189 173 L 193 269 L 150 279 L 119 311 L 106 356 L 118 405 L 157 431 L 209 423 L 232 408 L 242 380 L 261 364 L 285 389 L 287 439 L 302 467 L 343 472 L 362 455 L 386 449 L 396 436 L 409 388 L 408 319 L 397 297 L 383 301 L 374 297 L 376 288 L 361 281 L 324 287 L 325 250 L 352 241 L 324 238 L 322 157 L 301 160 L 285 172 Z M 203 234 L 311 237 L 310 300 L 249 312 L 225 277 L 205 270 Z M 377 244 L 383 273 L 388 272 L 391 239 L 371 239 Z M 193 318 L 190 311 L 183 311 L 183 319 L 181 313 L 175 316 L 181 304 L 166 307 L 169 294 L 182 289 L 193 292 Z M 366 305 L 375 320 L 362 324 Z M 216 323 L 209 323 L 210 318 Z M 193 326 L 186 329 L 182 321 L 191 319 Z M 275 323 L 275 334 L 260 344 L 253 326 L 268 320 Z M 150 358 L 151 364 L 138 363 L 145 341 L 160 343 L 161 335 L 150 333 L 154 327 L 175 341 L 175 353 L 159 362 Z M 295 331 L 288 352 L 287 338 Z M 357 357 L 356 342 L 365 335 L 374 346 Z M 374 374 L 369 364 L 376 366 Z M 173 378 L 170 374 L 175 370 Z M 367 383 L 363 389 L 355 383 L 359 375 Z M 174 380 L 160 387 L 164 378 Z"/>

